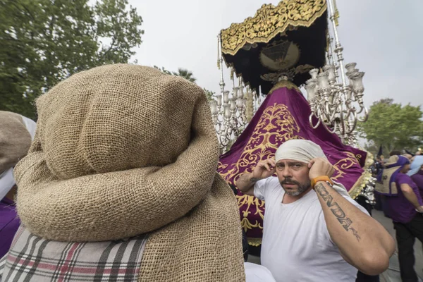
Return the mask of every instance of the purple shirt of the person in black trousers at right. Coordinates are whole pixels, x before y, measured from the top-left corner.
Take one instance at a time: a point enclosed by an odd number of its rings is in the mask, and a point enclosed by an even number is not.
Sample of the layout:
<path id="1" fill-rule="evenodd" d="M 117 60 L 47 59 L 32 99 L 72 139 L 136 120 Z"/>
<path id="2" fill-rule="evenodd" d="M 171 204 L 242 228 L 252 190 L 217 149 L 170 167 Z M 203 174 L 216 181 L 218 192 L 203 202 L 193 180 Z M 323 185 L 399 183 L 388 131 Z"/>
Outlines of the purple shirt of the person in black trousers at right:
<path id="1" fill-rule="evenodd" d="M 389 205 L 389 216 L 392 221 L 399 223 L 408 223 L 416 215 L 415 207 L 407 200 L 403 191 L 400 189 L 401 184 L 408 184 L 415 192 L 419 204 L 423 205 L 423 200 L 419 192 L 419 188 L 407 174 L 398 173 L 396 176 L 396 185 L 398 187 L 398 195 L 396 197 L 386 197 Z"/>

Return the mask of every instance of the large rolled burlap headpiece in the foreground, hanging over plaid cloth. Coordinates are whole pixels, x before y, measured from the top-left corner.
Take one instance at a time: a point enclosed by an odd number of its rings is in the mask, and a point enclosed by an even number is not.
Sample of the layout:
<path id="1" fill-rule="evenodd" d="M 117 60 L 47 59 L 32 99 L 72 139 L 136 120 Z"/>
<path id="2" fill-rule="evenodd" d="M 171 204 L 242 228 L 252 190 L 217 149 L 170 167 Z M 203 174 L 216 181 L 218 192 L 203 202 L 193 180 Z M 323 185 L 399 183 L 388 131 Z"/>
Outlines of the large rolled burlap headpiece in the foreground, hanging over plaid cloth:
<path id="1" fill-rule="evenodd" d="M 151 233 L 140 281 L 244 281 L 238 207 L 216 173 L 200 87 L 154 68 L 111 65 L 37 100 L 30 152 L 16 166 L 18 214 L 51 240 Z"/>

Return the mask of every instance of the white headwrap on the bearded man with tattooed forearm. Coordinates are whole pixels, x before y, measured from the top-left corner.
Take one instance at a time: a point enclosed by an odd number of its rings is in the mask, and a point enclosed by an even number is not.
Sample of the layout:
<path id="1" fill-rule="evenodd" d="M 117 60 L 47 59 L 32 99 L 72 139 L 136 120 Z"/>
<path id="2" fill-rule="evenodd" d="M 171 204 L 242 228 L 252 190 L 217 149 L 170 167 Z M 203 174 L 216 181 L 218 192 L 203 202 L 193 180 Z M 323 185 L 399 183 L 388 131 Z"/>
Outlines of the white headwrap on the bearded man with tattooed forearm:
<path id="1" fill-rule="evenodd" d="M 321 147 L 309 140 L 288 140 L 278 148 L 275 154 L 276 162 L 281 159 L 292 159 L 308 164 L 315 158 L 327 159 Z M 333 181 L 333 189 L 344 197 L 350 197 L 341 183 Z"/>

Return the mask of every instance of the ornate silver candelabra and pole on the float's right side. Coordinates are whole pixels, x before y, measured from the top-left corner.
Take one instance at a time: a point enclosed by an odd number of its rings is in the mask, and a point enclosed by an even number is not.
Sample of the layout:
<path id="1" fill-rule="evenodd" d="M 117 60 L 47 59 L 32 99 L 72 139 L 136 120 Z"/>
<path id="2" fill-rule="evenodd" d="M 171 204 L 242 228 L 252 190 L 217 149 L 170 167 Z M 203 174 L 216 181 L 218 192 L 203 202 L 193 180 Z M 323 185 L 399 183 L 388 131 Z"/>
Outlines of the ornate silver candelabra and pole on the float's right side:
<path id="1" fill-rule="evenodd" d="M 335 37 L 333 51 L 338 60 L 336 62 L 333 60 L 332 54 L 329 54 L 328 64 L 323 69 L 319 71 L 315 68 L 309 71 L 312 78 L 307 80 L 305 85 L 307 100 L 312 110 L 309 123 L 314 129 L 322 123 L 326 130 L 336 133 L 345 144 L 357 145 L 355 135 L 357 121 L 367 121 L 369 116 L 363 102 L 362 79 L 364 73 L 355 68 L 356 63 L 348 63 L 344 69 L 343 47 L 339 42 L 336 30 L 336 12 L 333 8 L 333 0 L 328 0 L 327 4 Z M 331 42 L 333 39 L 330 40 Z M 329 51 L 331 53 L 332 47 Z M 345 76 L 348 77 L 348 85 Z"/>

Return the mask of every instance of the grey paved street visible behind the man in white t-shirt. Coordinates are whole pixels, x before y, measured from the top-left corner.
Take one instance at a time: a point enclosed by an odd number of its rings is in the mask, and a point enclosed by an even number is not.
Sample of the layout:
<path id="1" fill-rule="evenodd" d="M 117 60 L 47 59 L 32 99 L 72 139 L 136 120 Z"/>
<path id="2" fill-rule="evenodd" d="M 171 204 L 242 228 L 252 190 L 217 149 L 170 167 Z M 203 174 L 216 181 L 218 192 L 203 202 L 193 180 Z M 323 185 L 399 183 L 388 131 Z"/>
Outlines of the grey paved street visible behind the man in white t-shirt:
<path id="1" fill-rule="evenodd" d="M 384 216 L 383 212 L 379 212 L 376 210 L 372 211 L 372 215 L 374 219 L 379 221 L 386 230 L 391 233 L 393 238 L 395 238 L 395 230 L 393 229 L 393 224 L 391 219 L 388 219 Z M 398 247 L 397 247 L 398 250 Z M 423 278 L 423 245 L 419 240 L 416 240 L 415 243 L 415 257 L 416 257 L 416 265 L 415 269 L 417 271 L 417 274 L 420 278 Z M 249 256 L 248 262 L 253 262 L 256 264 L 260 263 L 259 257 L 255 256 Z M 385 271 L 383 274 L 381 274 L 381 282 L 401 282 L 400 278 L 400 269 L 398 264 L 398 257 L 397 255 L 393 255 L 390 260 L 389 269 Z"/>

